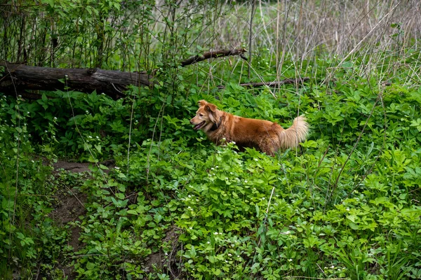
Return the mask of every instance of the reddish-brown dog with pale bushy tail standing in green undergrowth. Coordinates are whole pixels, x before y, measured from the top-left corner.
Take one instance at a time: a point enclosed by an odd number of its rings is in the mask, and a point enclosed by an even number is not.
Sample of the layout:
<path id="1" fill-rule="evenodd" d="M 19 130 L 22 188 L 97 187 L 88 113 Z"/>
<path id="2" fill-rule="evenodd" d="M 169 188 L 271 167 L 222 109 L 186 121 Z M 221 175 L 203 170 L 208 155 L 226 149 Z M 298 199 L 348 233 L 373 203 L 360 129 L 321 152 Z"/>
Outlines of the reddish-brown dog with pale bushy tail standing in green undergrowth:
<path id="1" fill-rule="evenodd" d="M 271 156 L 279 149 L 297 147 L 309 133 L 304 116 L 295 118 L 293 125 L 284 130 L 269 120 L 242 118 L 220 111 L 206 100 L 199 101 L 199 109 L 190 123 L 194 130 L 205 132 L 216 145 L 234 141 L 239 148 L 255 148 Z"/>

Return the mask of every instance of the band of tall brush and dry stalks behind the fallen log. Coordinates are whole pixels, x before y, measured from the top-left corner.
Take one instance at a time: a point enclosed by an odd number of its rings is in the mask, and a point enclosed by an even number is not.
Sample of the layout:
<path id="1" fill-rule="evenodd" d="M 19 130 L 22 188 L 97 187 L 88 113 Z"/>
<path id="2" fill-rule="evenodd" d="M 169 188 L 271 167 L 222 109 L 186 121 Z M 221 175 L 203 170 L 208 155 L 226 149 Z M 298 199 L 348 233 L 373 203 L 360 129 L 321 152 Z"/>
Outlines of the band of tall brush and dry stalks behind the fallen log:
<path id="1" fill-rule="evenodd" d="M 295 66 L 301 69 L 304 60 L 337 56 L 370 55 L 370 64 L 382 64 L 384 57 L 377 53 L 405 58 L 420 38 L 417 0 L 255 1 L 253 17 L 254 1 L 115 2 L 118 5 L 107 9 L 95 3 L 88 8 L 79 1 L 73 6 L 6 4 L 1 11 L 0 57 L 56 66 L 93 66 L 100 61 L 103 64 L 96 66 L 121 70 L 136 68 L 133 61 L 140 59 L 143 65 L 138 67 L 147 69 L 148 63 L 154 64 L 151 54 L 169 59 L 162 49 L 173 43 L 173 52 L 187 51 L 182 55 L 244 46 L 258 57 L 269 50 L 278 69 L 285 57 L 299 62 Z M 92 10 L 99 15 L 90 18 Z M 54 21 L 57 13 L 60 18 Z M 115 64 L 115 59 L 125 62 Z"/>

